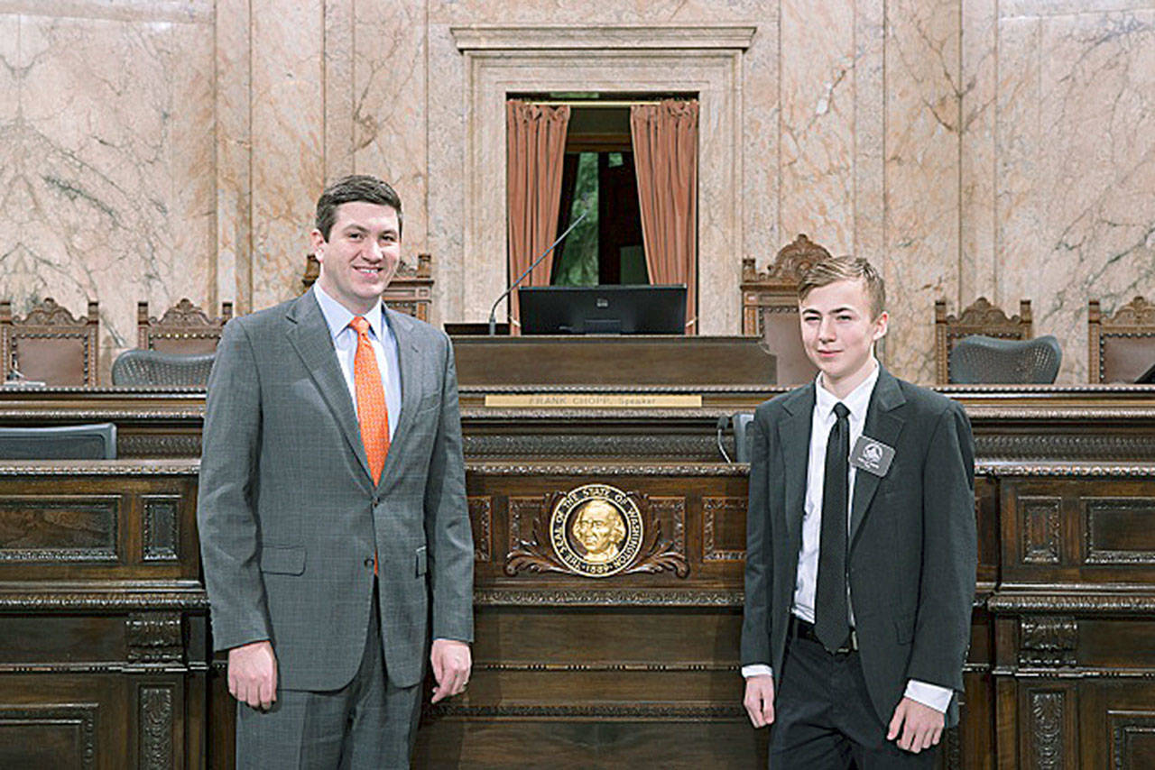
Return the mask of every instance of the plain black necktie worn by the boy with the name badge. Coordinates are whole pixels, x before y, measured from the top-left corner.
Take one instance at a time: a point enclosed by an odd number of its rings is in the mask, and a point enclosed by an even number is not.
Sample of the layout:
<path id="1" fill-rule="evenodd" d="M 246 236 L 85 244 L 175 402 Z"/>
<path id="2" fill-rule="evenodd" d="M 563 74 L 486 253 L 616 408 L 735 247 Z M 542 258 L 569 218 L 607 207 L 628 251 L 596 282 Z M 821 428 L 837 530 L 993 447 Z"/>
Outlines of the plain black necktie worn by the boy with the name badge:
<path id="1" fill-rule="evenodd" d="M 850 477 L 850 410 L 839 402 L 837 419 L 826 441 L 822 481 L 822 536 L 818 546 L 818 591 L 814 633 L 822 646 L 835 651 L 850 636 L 847 608 L 847 496 Z"/>

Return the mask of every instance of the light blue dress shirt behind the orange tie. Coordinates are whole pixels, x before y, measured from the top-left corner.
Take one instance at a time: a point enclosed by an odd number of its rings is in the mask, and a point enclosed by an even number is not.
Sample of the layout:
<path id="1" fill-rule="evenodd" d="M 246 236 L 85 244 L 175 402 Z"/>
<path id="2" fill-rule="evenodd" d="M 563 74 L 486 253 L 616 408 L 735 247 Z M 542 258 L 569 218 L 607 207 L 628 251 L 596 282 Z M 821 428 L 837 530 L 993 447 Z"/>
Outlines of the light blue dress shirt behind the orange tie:
<path id="1" fill-rule="evenodd" d="M 357 356 L 357 331 L 349 326 L 353 314 L 344 305 L 329 297 L 321 283 L 313 283 L 313 294 L 321 306 L 321 314 L 329 327 L 333 346 L 337 352 L 337 364 L 345 377 L 349 397 L 353 401 L 353 412 L 357 411 L 357 386 L 353 383 L 353 358 Z M 389 440 L 397 429 L 401 418 L 401 364 L 397 358 L 397 339 L 386 320 L 381 300 L 365 314 L 368 321 L 368 342 L 377 356 L 377 369 L 381 373 L 381 387 L 385 388 L 385 408 L 389 412 Z"/>

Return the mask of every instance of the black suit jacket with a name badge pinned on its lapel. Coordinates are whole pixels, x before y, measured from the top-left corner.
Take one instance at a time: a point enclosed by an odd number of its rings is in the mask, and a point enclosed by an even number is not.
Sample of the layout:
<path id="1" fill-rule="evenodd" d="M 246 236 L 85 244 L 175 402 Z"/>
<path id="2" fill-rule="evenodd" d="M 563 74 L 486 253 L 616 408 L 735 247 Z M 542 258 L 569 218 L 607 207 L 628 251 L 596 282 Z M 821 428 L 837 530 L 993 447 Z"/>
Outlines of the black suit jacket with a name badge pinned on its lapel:
<path id="1" fill-rule="evenodd" d="M 775 674 L 793 604 L 813 409 L 810 383 L 761 404 L 751 424 L 742 663 Z M 975 450 L 957 403 L 885 368 L 863 433 L 895 449 L 885 478 L 855 474 L 848 552 L 863 673 L 887 724 L 908 679 L 963 689 L 978 554 Z"/>

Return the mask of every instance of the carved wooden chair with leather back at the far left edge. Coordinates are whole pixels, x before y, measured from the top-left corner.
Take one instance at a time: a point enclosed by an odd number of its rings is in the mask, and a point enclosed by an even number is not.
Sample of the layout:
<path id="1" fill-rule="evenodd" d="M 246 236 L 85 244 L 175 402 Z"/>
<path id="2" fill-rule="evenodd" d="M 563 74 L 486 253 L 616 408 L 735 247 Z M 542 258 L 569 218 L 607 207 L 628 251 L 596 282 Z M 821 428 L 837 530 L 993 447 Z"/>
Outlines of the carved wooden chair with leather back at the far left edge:
<path id="1" fill-rule="evenodd" d="M 51 297 L 23 319 L 14 319 L 12 302 L 0 301 L 0 358 L 5 379 L 23 375 L 50 386 L 98 384 L 100 316 L 97 302 L 76 319 Z M 18 375 L 13 374 L 13 369 Z"/>

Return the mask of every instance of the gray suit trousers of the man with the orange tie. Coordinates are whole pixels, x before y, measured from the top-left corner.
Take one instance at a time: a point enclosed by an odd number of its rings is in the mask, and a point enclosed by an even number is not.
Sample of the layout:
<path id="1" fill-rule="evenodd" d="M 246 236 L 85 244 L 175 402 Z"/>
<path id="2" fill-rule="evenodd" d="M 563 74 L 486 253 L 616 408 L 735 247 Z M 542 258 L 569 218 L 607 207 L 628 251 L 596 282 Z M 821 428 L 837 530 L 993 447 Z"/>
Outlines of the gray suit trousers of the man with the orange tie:
<path id="1" fill-rule="evenodd" d="M 422 685 L 394 687 L 385 675 L 378 590 L 360 667 L 336 690 L 277 689 L 267 711 L 237 704 L 237 768 L 379 770 L 408 768 Z"/>

